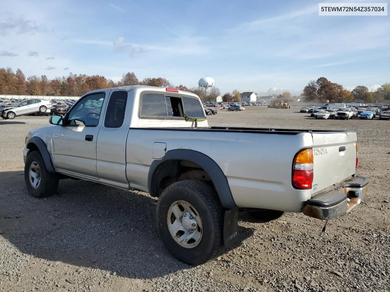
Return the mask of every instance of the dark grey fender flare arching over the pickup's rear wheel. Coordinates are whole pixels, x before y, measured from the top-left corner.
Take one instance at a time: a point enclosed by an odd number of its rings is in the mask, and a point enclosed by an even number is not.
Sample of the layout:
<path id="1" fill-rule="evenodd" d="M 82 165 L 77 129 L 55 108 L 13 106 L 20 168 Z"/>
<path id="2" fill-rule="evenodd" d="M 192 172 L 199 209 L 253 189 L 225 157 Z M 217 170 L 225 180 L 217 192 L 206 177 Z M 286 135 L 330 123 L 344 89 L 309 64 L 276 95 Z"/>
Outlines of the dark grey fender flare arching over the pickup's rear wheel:
<path id="1" fill-rule="evenodd" d="M 229 183 L 222 169 L 216 164 L 216 162 L 207 155 L 188 149 L 174 149 L 165 153 L 164 157 L 160 160 L 154 160 L 149 168 L 148 174 L 148 190 L 149 193 L 153 190 L 153 179 L 156 169 L 169 160 L 185 160 L 195 163 L 202 167 L 204 171 L 210 176 L 215 189 L 218 193 L 218 197 L 222 203 L 222 206 L 227 209 L 238 208 L 234 202 L 232 192 L 230 191 Z M 153 195 L 153 194 L 151 194 Z"/>

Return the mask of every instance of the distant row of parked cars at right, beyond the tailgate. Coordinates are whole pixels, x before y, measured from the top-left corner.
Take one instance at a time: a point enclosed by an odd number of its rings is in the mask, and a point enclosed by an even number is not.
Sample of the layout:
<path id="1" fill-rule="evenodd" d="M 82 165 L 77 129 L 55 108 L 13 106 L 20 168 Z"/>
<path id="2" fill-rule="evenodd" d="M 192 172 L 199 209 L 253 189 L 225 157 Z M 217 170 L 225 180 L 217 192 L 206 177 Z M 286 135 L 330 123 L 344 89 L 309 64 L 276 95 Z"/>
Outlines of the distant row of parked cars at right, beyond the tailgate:
<path id="1" fill-rule="evenodd" d="M 302 107 L 300 110 L 301 113 L 311 113 L 310 116 L 316 119 L 342 119 L 349 120 L 350 118 L 360 118 L 360 119 L 374 119 L 379 118 L 379 120 L 389 120 L 390 119 L 390 105 L 381 105 L 378 106 L 367 106 L 367 107 Z"/>

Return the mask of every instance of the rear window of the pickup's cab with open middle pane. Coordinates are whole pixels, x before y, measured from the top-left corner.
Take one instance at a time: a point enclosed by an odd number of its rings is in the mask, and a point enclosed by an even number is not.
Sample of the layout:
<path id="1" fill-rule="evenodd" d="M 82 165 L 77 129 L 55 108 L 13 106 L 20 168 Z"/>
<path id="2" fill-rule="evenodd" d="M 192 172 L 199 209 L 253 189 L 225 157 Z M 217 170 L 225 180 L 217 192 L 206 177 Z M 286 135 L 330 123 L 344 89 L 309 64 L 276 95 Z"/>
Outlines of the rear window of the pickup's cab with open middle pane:
<path id="1" fill-rule="evenodd" d="M 205 118 L 200 101 L 188 96 L 172 96 L 163 93 L 143 93 L 140 97 L 140 118 L 165 118 L 184 120 Z"/>

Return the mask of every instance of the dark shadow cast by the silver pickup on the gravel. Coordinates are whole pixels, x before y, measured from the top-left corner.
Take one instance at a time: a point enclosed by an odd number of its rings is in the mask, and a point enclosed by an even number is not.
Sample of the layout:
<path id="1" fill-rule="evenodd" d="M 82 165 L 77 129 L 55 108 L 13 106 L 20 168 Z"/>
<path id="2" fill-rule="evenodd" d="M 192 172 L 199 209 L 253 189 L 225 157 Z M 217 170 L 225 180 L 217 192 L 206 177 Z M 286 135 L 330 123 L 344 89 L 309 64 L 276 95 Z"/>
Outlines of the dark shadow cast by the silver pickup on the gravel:
<path id="1" fill-rule="evenodd" d="M 1 236 L 23 253 L 137 279 L 191 267 L 165 250 L 157 200 L 147 193 L 64 179 L 56 195 L 36 199 L 27 193 L 23 171 L 0 172 L 0 185 Z M 240 226 L 233 248 L 253 233 Z"/>

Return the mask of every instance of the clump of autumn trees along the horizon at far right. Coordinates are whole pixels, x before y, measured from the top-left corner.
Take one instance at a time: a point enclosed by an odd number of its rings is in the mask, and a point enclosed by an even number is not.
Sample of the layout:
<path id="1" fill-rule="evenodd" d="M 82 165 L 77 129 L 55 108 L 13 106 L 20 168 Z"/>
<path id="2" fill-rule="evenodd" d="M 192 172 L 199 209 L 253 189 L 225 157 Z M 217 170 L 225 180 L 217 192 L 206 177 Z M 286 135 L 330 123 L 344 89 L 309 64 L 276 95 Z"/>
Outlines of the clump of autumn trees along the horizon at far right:
<path id="1" fill-rule="evenodd" d="M 366 86 L 356 86 L 352 91 L 346 90 L 342 85 L 333 83 L 325 77 L 316 81 L 310 80 L 301 94 L 303 100 L 309 102 L 383 102 L 390 100 L 390 83 L 385 83 L 376 91 L 370 92 Z"/>

